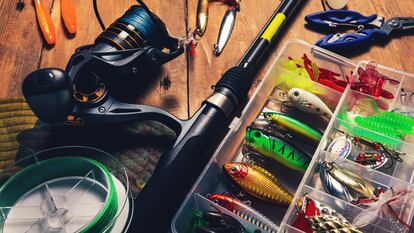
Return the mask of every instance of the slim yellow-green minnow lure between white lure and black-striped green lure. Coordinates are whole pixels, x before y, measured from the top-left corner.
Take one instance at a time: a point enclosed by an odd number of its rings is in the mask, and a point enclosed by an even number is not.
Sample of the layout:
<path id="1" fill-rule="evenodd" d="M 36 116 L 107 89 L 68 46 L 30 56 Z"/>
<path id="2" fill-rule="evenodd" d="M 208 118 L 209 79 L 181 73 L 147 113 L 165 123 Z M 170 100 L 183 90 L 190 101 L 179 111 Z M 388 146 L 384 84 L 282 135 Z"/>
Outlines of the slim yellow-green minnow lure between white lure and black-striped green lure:
<path id="1" fill-rule="evenodd" d="M 322 139 L 322 133 L 312 126 L 305 124 L 297 119 L 277 112 L 264 112 L 263 116 L 271 123 L 281 126 L 282 128 L 305 137 L 315 143 Z"/>

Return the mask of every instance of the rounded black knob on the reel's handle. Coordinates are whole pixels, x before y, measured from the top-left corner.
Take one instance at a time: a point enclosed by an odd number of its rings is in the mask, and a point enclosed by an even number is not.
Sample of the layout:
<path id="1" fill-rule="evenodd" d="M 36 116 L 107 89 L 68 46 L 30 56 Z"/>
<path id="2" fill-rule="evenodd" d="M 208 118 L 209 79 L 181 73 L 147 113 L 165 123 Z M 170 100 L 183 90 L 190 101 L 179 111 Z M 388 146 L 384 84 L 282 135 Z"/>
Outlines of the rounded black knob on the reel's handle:
<path id="1" fill-rule="evenodd" d="M 30 108 L 44 122 L 63 123 L 73 111 L 73 90 L 63 70 L 47 68 L 30 73 L 22 91 Z"/>

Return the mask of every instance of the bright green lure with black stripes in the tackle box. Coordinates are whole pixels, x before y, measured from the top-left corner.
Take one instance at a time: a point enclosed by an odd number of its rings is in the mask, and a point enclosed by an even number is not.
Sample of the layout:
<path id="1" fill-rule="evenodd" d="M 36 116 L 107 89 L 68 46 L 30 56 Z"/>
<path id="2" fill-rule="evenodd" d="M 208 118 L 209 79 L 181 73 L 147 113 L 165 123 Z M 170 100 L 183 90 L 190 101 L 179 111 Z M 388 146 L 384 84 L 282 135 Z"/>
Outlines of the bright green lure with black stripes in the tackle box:
<path id="1" fill-rule="evenodd" d="M 246 146 L 286 167 L 305 172 L 311 157 L 281 138 L 267 135 L 259 129 L 246 128 Z"/>

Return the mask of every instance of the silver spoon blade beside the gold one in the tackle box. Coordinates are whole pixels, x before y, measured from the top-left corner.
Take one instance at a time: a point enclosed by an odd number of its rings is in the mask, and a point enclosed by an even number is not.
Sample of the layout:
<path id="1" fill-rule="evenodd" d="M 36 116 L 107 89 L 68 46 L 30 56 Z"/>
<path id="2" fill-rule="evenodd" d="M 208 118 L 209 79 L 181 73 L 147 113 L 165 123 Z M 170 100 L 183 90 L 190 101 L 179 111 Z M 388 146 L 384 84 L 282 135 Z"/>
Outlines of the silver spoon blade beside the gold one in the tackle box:
<path id="1" fill-rule="evenodd" d="M 339 183 L 329 174 L 327 167 L 324 164 L 319 166 L 319 176 L 324 189 L 332 196 L 341 198 L 348 202 L 352 202 L 356 199 L 351 195 L 347 187 Z"/>

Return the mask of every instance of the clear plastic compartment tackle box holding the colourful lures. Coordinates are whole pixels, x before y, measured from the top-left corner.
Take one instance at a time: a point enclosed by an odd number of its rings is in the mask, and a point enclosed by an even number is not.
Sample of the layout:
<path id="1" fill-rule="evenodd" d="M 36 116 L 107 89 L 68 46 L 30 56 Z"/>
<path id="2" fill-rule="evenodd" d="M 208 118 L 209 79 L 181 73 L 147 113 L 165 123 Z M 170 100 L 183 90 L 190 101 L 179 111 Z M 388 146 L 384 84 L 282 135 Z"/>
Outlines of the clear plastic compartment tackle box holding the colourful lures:
<path id="1" fill-rule="evenodd" d="M 343 80 L 347 80 L 347 77 L 351 77 L 351 74 L 357 76 L 358 68 L 365 68 L 369 64 L 366 61 L 355 62 L 349 60 L 304 41 L 289 41 L 280 51 L 280 54 L 278 54 L 266 77 L 258 86 L 242 112 L 241 117 L 234 119 L 232 122 L 228 134 L 182 203 L 171 223 L 171 230 L 173 232 L 192 232 L 192 218 L 197 210 L 220 211 L 236 218 L 246 229 L 257 229 L 256 226 L 246 221 L 246 219 L 211 202 L 206 197 L 214 193 L 232 193 L 234 195 L 240 193 L 240 189 L 228 178 L 222 167 L 224 163 L 246 160 L 246 156 L 242 154 L 246 127 L 256 119 L 260 119 L 261 113 L 267 110 L 283 112 L 294 118 L 303 119 L 311 123 L 315 128 L 318 128 L 321 132 L 324 132 L 322 140 L 317 147 L 308 150 L 312 152 L 313 158 L 305 173 L 293 171 L 277 162 L 267 164 L 266 161 L 263 161 L 264 164 L 269 165 L 267 169 L 294 194 L 293 202 L 289 207 L 269 204 L 248 194 L 241 197 L 242 200 L 250 201 L 250 206 L 260 212 L 259 215 L 255 215 L 255 218 L 266 223 L 275 229 L 275 231 L 302 232 L 294 228 L 292 223 L 297 215 L 297 203 L 305 193 L 314 200 L 333 207 L 333 209 L 350 222 L 364 210 L 363 207 L 339 199 L 324 190 L 320 179 L 318 179 L 318 164 L 323 161 L 335 161 L 335 164 L 338 166 L 360 175 L 378 187 L 385 189 L 392 187 L 395 190 L 414 188 L 412 185 L 414 182 L 414 144 L 412 144 L 414 140 L 410 136 L 397 139 L 381 135 L 369 129 L 359 127 L 355 122 L 348 121 L 341 115 L 344 112 L 358 114 L 361 111 L 365 111 L 369 115 L 370 112 L 372 113 L 370 102 L 373 101 L 382 101 L 383 109 L 377 111 L 398 110 L 404 113 L 410 113 L 412 106 L 407 105 L 406 102 L 402 103 L 400 96 L 402 91 L 408 93 L 414 91 L 414 76 L 382 65 L 377 65 L 376 70 L 381 74 L 399 81 L 399 83 L 386 83 L 384 85 L 384 89 L 393 94 L 394 97 L 392 99 L 373 98 L 352 90 L 349 84 L 344 93 L 341 93 L 285 69 L 285 63 L 288 59 L 297 59 L 302 57 L 303 54 L 306 54 L 318 67 L 329 69 L 340 74 Z M 332 110 L 332 118 L 315 117 L 314 115 L 288 108 L 285 104 L 286 92 L 294 87 L 317 95 Z M 367 103 L 356 106 L 355 102 L 357 100 L 365 100 Z M 401 153 L 405 153 L 405 155 L 401 156 L 403 162 L 395 162 L 387 169 L 375 170 L 349 159 L 333 156 L 328 152 L 329 144 L 333 139 L 340 136 L 340 134 L 348 131 L 365 132 L 371 136 L 373 135 L 376 139 L 381 139 L 384 144 L 389 145 Z M 305 144 L 296 146 L 306 149 Z M 409 225 L 411 225 L 413 217 L 413 207 L 414 200 L 404 200 L 404 204 L 398 213 L 399 218 Z M 249 213 L 249 210 L 246 210 L 246 212 Z M 363 232 L 398 232 L 405 231 L 406 229 L 396 229 L 396 225 L 392 224 L 389 218 L 378 216 L 375 224 L 367 225 L 360 230 Z"/>

